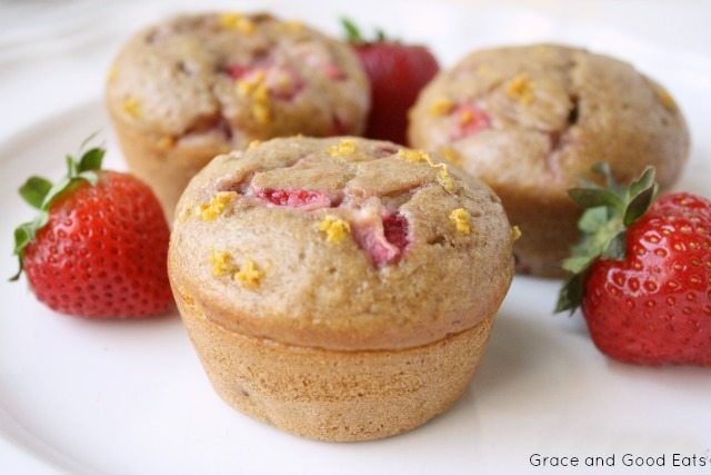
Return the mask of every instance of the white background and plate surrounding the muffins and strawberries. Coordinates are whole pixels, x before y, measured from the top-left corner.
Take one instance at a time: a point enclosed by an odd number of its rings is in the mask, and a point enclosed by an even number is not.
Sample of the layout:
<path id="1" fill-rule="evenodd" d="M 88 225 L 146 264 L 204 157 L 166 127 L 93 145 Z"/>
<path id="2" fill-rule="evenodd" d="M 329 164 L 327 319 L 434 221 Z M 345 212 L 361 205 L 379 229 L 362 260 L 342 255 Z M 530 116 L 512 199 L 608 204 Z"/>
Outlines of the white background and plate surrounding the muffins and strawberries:
<path id="1" fill-rule="evenodd" d="M 711 1 L 0 1 L 0 276 L 11 229 L 29 217 L 14 189 L 57 176 L 98 128 L 122 167 L 101 105 L 111 58 L 170 12 L 269 9 L 338 34 L 347 13 L 432 46 L 445 66 L 489 44 L 560 40 L 625 58 L 669 86 L 692 159 L 681 187 L 711 182 Z M 711 369 L 605 359 L 579 316 L 552 317 L 555 284 L 517 277 L 481 369 L 447 414 L 403 436 L 322 444 L 227 408 L 177 318 L 97 324 L 0 284 L 0 473 L 545 473 L 528 457 L 673 452 L 709 456 Z M 558 469 L 553 473 L 582 473 Z M 639 469 L 627 471 L 642 473 Z M 662 468 L 659 473 L 709 473 Z"/>

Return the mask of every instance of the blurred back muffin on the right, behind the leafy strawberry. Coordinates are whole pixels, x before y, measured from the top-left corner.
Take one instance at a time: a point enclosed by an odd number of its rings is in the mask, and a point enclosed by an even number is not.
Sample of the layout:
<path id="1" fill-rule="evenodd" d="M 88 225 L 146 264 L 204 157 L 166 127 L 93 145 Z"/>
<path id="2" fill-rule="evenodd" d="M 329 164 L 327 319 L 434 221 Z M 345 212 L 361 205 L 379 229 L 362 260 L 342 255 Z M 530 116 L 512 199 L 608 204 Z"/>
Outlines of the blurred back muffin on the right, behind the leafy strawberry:
<path id="1" fill-rule="evenodd" d="M 679 178 L 689 132 L 673 99 L 632 66 L 564 46 L 474 52 L 440 73 L 410 112 L 412 146 L 439 150 L 501 197 L 521 228 L 518 268 L 560 276 L 581 210 L 567 190 L 610 164 L 623 182 L 648 165 Z"/>

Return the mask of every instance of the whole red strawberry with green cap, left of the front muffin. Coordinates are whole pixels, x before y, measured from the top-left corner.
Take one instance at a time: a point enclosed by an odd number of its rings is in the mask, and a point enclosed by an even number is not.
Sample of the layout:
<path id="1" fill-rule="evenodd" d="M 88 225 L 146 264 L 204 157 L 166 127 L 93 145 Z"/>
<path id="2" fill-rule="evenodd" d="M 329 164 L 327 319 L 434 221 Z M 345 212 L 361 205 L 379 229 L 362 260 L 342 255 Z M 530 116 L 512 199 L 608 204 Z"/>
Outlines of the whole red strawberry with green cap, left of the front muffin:
<path id="1" fill-rule="evenodd" d="M 31 177 L 20 195 L 39 210 L 14 231 L 14 254 L 37 298 L 57 311 L 90 318 L 143 317 L 172 303 L 169 229 L 152 191 L 130 175 L 101 170 L 104 150 L 52 185 Z"/>

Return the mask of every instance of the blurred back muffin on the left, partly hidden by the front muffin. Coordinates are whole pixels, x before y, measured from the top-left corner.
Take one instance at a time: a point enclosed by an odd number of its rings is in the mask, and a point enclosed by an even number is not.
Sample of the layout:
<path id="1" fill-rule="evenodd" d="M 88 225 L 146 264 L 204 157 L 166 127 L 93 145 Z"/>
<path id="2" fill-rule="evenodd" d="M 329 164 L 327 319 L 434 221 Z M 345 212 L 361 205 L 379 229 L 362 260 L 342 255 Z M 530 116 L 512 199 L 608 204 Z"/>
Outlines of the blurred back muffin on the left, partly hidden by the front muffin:
<path id="1" fill-rule="evenodd" d="M 106 100 L 129 168 L 172 220 L 214 156 L 272 137 L 360 133 L 370 96 L 348 46 L 269 14 L 212 13 L 131 38 Z"/>

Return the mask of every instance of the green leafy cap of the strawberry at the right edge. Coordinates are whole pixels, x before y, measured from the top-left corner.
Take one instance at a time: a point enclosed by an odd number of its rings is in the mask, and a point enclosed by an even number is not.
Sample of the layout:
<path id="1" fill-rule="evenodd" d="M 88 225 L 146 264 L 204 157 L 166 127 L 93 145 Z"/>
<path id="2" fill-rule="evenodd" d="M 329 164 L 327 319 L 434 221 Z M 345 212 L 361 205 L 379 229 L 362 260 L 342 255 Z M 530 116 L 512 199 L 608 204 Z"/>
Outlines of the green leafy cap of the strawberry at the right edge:
<path id="1" fill-rule="evenodd" d="M 571 276 L 560 289 L 555 313 L 573 313 L 580 306 L 593 263 L 624 260 L 627 230 L 647 212 L 659 189 L 653 167 L 647 167 L 627 188 L 614 179 L 607 162 L 597 164 L 592 171 L 604 177 L 605 187 L 581 178 L 582 187 L 568 190 L 570 198 L 584 209 L 578 221 L 582 238 L 563 260 L 563 268 Z"/>

